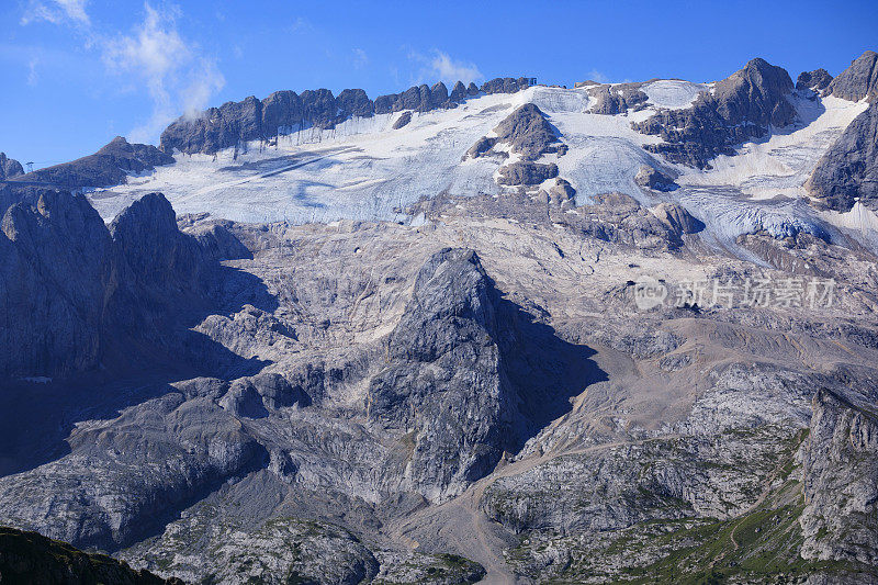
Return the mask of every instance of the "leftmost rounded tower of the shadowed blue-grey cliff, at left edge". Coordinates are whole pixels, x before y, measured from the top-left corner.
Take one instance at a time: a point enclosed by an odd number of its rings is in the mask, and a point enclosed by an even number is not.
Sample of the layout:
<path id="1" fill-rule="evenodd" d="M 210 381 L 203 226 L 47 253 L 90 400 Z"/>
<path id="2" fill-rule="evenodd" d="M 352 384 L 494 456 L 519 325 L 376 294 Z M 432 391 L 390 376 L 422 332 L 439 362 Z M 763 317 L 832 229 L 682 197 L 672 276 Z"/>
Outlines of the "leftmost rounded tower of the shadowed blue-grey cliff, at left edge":
<path id="1" fill-rule="evenodd" d="M 112 240 L 82 195 L 33 189 L 0 232 L 0 376 L 95 367 Z"/>

